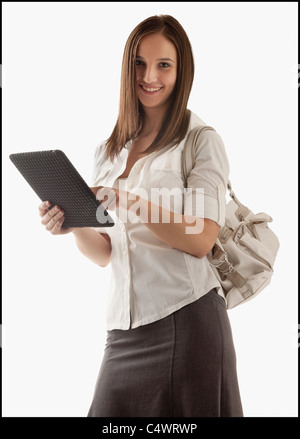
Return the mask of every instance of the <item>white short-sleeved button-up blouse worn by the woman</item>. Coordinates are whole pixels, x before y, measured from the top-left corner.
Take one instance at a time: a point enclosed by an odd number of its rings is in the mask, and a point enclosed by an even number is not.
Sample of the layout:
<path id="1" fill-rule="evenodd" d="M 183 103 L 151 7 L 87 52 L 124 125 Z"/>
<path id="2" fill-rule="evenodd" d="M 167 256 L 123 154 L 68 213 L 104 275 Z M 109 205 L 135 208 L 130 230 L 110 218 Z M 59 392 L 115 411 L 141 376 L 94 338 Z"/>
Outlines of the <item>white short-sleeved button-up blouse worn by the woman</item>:
<path id="1" fill-rule="evenodd" d="M 188 132 L 206 125 L 191 112 Z M 185 138 L 186 139 L 186 138 Z M 131 141 L 127 142 L 113 162 L 105 159 L 105 142 L 95 151 L 91 186 L 115 187 L 137 195 L 175 213 L 194 215 L 225 222 L 226 185 L 229 163 L 220 135 L 204 131 L 196 149 L 196 164 L 184 189 L 181 156 L 185 139 L 177 147 L 166 146 L 139 159 L 128 178 L 119 179 L 126 168 Z M 151 188 L 172 191 L 169 207 L 164 197 L 151 198 Z M 200 188 L 201 200 L 197 203 Z M 180 189 L 180 191 L 179 191 Z M 196 191 L 197 189 L 197 191 Z M 140 221 L 120 219 L 109 211 L 113 227 L 99 227 L 111 239 L 111 279 L 107 302 L 107 330 L 129 329 L 154 322 L 199 299 L 212 288 L 224 296 L 208 260 L 177 250 L 156 237 Z"/>

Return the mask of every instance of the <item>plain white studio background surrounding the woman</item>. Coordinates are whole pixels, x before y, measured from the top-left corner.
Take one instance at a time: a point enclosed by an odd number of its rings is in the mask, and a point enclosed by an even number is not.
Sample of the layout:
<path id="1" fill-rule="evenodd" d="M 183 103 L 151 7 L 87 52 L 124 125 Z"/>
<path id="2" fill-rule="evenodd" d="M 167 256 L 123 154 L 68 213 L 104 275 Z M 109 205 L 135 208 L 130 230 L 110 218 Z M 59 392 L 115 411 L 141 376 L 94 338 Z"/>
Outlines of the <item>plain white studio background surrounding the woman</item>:
<path id="1" fill-rule="evenodd" d="M 6 3 L 3 10 L 3 416 L 87 415 L 110 266 L 52 236 L 9 160 L 62 149 L 90 183 L 117 119 L 125 42 L 170 14 L 192 43 L 188 108 L 222 136 L 238 198 L 270 214 L 271 284 L 229 311 L 246 417 L 297 416 L 297 3 Z"/>

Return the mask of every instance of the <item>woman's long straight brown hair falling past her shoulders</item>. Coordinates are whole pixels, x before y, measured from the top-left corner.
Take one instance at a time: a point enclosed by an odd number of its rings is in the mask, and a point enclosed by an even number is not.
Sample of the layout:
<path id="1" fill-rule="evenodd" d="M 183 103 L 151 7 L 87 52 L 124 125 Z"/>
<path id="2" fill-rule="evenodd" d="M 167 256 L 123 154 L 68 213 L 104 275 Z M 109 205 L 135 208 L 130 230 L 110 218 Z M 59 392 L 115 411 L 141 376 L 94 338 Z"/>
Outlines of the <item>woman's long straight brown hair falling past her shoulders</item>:
<path id="1" fill-rule="evenodd" d="M 175 46 L 177 52 L 177 78 L 170 96 L 159 133 L 144 151 L 151 153 L 166 145 L 178 145 L 184 139 L 190 113 L 187 102 L 194 80 L 194 58 L 188 36 L 181 24 L 170 15 L 154 15 L 138 24 L 129 35 L 123 54 L 119 116 L 106 141 L 106 158 L 113 160 L 128 140 L 139 135 L 143 127 L 144 111 L 136 93 L 136 52 L 146 35 L 161 33 Z"/>

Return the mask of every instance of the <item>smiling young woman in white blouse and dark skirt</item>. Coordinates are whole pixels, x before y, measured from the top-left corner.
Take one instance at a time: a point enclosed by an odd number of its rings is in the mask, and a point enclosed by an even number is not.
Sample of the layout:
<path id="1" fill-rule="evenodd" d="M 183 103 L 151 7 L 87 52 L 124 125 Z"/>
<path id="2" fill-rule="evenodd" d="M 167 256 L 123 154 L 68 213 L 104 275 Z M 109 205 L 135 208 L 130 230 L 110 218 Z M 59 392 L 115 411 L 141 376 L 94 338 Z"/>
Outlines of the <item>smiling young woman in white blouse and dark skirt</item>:
<path id="1" fill-rule="evenodd" d="M 124 50 L 117 123 L 95 152 L 92 189 L 115 225 L 64 229 L 59 207 L 40 205 L 47 230 L 72 232 L 89 259 L 112 264 L 89 417 L 243 416 L 226 302 L 206 258 L 225 219 L 219 134 L 201 134 L 186 190 L 181 177 L 187 135 L 205 125 L 187 109 L 193 77 L 179 22 L 141 22 Z"/>

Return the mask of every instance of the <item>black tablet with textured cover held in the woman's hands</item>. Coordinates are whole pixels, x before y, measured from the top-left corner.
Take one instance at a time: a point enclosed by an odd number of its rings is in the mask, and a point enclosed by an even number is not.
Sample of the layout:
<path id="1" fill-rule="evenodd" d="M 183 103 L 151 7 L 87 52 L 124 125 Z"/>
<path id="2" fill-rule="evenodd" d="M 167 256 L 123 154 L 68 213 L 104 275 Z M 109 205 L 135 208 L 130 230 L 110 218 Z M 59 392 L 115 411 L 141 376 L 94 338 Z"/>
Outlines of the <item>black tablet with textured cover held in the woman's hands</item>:
<path id="1" fill-rule="evenodd" d="M 63 151 L 22 152 L 9 158 L 42 201 L 49 200 L 51 207 L 57 204 L 65 212 L 62 227 L 114 225 Z"/>

